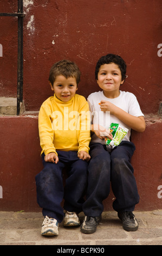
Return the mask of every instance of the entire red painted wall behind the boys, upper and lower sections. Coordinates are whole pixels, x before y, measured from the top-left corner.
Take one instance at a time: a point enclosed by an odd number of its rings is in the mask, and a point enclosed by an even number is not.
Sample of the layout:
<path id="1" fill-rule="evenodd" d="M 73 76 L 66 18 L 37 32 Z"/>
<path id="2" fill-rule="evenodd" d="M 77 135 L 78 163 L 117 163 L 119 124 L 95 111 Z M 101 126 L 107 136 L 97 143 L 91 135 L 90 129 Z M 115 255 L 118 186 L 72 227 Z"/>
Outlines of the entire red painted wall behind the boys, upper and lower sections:
<path id="1" fill-rule="evenodd" d="M 51 96 L 49 69 L 60 59 L 74 60 L 82 72 L 80 93 L 99 90 L 94 69 L 107 53 L 127 63 L 122 90 L 137 96 L 145 114 L 146 131 L 132 132 L 132 158 L 140 193 L 137 210 L 161 209 L 160 0 L 24 0 L 24 86 L 27 111 L 38 111 Z M 17 0 L 0 0 L 1 13 L 16 13 Z M 17 93 L 17 18 L 0 17 L 0 96 Z M 39 211 L 35 175 L 42 169 L 37 115 L 0 117 L 0 210 Z M 111 192 L 105 210 L 112 209 Z"/>

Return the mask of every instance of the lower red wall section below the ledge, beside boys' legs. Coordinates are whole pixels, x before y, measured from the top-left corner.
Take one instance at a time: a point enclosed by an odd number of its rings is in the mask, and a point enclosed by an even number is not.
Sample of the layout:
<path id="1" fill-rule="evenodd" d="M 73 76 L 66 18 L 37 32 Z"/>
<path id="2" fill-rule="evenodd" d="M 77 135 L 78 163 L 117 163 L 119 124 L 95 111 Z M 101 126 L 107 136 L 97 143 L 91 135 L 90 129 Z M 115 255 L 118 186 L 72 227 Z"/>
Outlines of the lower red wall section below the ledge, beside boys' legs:
<path id="1" fill-rule="evenodd" d="M 37 121 L 34 115 L 0 117 L 0 186 L 3 188 L 0 211 L 41 211 L 36 202 L 35 185 L 35 175 L 43 168 Z M 140 194 L 135 210 L 149 211 L 162 206 L 161 130 L 162 122 L 157 119 L 144 133 L 132 133 L 136 145 L 132 164 Z M 111 191 L 104 201 L 104 210 L 112 210 L 113 200 Z"/>

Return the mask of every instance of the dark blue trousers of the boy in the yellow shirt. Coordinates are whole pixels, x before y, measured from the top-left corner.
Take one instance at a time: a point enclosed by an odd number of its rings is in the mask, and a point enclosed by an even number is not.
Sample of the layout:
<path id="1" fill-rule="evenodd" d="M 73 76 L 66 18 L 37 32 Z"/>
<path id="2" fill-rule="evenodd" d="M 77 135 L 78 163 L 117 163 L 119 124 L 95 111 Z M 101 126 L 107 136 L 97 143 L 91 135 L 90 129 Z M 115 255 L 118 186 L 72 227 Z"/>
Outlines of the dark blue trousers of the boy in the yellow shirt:
<path id="1" fill-rule="evenodd" d="M 61 202 L 64 198 L 64 209 L 67 211 L 82 211 L 83 196 L 87 187 L 88 163 L 77 157 L 77 151 L 57 151 L 58 163 L 42 161 L 44 168 L 35 177 L 37 202 L 43 216 L 63 220 Z M 66 167 L 68 178 L 63 186 L 62 170 Z"/>

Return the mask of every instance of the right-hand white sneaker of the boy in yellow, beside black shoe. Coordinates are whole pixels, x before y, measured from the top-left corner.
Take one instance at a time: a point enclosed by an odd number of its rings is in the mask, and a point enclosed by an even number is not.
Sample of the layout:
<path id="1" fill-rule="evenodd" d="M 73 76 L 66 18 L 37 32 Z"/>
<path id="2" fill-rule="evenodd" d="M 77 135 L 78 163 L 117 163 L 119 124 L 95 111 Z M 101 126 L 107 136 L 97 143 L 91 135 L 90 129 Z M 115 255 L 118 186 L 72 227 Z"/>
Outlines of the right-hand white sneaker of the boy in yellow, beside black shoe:
<path id="1" fill-rule="evenodd" d="M 79 226 L 80 220 L 76 212 L 65 211 L 63 225 L 66 227 Z"/>

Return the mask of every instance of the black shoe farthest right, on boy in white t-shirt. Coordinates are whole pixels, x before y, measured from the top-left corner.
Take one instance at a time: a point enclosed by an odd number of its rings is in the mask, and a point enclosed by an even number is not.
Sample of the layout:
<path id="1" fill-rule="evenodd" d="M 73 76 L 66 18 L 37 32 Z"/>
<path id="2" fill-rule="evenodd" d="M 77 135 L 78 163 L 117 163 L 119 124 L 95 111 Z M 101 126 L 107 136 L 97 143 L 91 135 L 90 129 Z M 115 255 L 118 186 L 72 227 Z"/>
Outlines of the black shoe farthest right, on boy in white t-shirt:
<path id="1" fill-rule="evenodd" d="M 122 227 L 127 231 L 136 231 L 138 221 L 132 211 L 118 212 L 118 217 L 122 221 Z"/>

